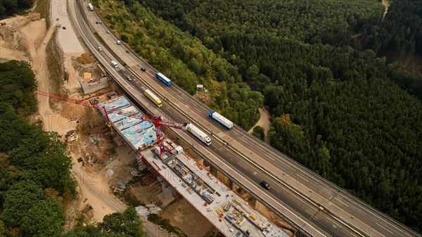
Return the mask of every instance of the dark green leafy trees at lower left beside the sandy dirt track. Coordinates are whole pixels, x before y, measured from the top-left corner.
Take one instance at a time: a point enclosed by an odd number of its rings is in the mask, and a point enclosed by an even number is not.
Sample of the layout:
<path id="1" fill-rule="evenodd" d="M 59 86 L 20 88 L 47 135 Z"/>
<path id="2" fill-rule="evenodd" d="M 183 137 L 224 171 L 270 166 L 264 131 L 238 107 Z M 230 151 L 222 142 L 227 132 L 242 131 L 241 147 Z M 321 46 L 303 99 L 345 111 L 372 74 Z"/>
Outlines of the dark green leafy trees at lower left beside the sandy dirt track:
<path id="1" fill-rule="evenodd" d="M 145 236 L 133 207 L 107 215 L 96 226 L 84 226 L 81 219 L 62 233 L 64 199 L 75 194 L 75 181 L 58 134 L 27 122 L 26 116 L 37 110 L 35 87 L 30 65 L 0 63 L 0 236 Z"/>

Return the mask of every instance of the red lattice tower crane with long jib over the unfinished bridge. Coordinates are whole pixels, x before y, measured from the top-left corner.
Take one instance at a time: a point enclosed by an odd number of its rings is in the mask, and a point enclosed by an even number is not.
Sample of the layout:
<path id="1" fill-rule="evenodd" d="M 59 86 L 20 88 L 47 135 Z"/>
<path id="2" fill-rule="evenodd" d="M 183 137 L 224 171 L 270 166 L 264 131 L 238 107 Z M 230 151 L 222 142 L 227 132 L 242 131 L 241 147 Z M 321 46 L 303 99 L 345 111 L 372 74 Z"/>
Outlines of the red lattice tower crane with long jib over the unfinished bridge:
<path id="1" fill-rule="evenodd" d="M 67 101 L 70 103 L 76 103 L 78 105 L 84 105 L 87 106 L 89 108 L 96 108 L 97 110 L 102 110 L 104 112 L 104 116 L 106 117 L 106 121 L 107 121 L 107 125 L 108 127 L 110 127 L 110 129 L 113 129 L 112 124 L 110 122 L 110 119 L 108 118 L 108 114 L 109 113 L 117 113 L 119 115 L 123 115 L 125 117 L 134 117 L 136 119 L 139 120 L 146 120 L 149 122 L 152 122 L 154 124 L 155 127 L 155 133 L 157 134 L 157 144 L 160 147 L 160 158 L 163 152 L 165 152 L 166 150 L 170 152 L 170 149 L 167 148 L 167 146 L 165 146 L 164 144 L 164 133 L 162 132 L 161 126 L 164 127 L 173 127 L 175 129 L 186 129 L 186 124 L 177 124 L 174 122 L 169 122 L 166 120 L 163 120 L 161 116 L 148 116 L 148 115 L 143 115 L 141 113 L 129 113 L 123 110 L 120 110 L 118 108 L 107 108 L 106 106 L 101 106 L 98 104 L 93 104 L 93 103 L 89 103 L 87 101 L 82 101 L 82 100 L 77 100 L 75 98 L 65 98 L 63 96 L 58 96 L 56 94 L 50 94 L 44 91 L 34 91 L 35 94 L 39 94 L 42 96 L 49 96 L 51 98 L 56 98 L 60 101 Z"/>

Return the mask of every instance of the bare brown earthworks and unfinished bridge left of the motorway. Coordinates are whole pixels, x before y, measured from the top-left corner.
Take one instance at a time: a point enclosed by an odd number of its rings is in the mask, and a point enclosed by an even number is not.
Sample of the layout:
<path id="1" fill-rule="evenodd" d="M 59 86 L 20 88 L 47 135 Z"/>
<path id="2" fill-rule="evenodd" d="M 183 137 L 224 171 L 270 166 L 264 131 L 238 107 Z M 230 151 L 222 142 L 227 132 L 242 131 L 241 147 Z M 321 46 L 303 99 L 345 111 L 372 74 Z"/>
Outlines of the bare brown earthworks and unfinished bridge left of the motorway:
<path id="1" fill-rule="evenodd" d="M 43 121 L 47 131 L 57 132 L 68 144 L 79 194 L 66 200 L 65 229 L 80 217 L 95 224 L 134 205 L 148 236 L 215 236 L 219 230 L 226 236 L 293 235 L 291 226 L 241 188 L 227 188 L 221 173 L 210 174 L 202 159 L 171 140 L 171 133 L 165 140 L 171 151 L 160 159 L 151 122 L 110 113 L 112 126 L 107 126 L 96 105 L 141 111 L 121 96 L 122 89 L 57 9 L 51 6 L 51 20 L 39 13 L 2 20 L 6 25 L 0 27 L 0 60 L 32 65 L 44 93 L 38 96 L 39 113 L 32 121 Z M 173 229 L 148 221 L 151 213 L 169 219 Z"/>

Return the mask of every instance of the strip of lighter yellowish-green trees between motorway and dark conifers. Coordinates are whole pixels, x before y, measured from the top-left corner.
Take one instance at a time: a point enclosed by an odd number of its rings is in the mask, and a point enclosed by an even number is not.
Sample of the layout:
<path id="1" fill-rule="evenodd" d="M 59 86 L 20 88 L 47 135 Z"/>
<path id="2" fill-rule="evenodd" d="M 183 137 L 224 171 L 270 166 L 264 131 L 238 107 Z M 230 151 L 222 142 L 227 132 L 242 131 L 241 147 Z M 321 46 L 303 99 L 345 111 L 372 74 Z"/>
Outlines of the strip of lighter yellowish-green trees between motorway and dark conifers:
<path id="1" fill-rule="evenodd" d="M 148 11 L 136 1 L 104 4 L 104 17 L 148 63 L 191 94 L 196 84 L 209 91 L 212 108 L 249 129 L 258 120 L 264 97 L 242 81 L 238 68 L 207 49 L 200 40 Z M 139 24 L 134 24 L 139 23 Z"/>

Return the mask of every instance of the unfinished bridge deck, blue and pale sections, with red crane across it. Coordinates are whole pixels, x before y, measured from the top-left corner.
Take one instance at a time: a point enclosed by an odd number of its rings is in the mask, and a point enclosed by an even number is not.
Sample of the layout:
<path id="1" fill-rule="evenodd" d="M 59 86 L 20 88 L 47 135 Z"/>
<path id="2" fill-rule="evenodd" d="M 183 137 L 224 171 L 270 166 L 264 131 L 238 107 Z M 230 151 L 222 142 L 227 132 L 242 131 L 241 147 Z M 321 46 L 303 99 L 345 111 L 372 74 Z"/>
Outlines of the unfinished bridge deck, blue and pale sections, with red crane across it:
<path id="1" fill-rule="evenodd" d="M 162 193 L 158 198 L 162 206 L 184 198 L 225 236 L 288 236 L 267 217 L 253 210 L 203 165 L 186 155 L 181 146 L 167 139 L 161 128 L 184 129 L 184 125 L 167 122 L 157 116 L 143 115 L 125 96 L 113 92 L 108 95 L 107 101 L 93 98 L 89 103 L 42 91 L 36 93 L 100 111 L 114 135 L 113 141 L 127 144 L 136 150 L 138 170 L 133 171 L 134 175 L 147 169 L 150 173 L 149 183 L 155 180 L 160 182 Z M 122 191 L 122 188 L 115 187 L 116 190 Z"/>

